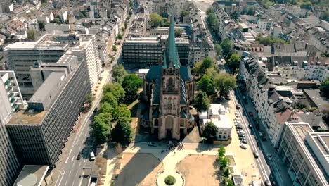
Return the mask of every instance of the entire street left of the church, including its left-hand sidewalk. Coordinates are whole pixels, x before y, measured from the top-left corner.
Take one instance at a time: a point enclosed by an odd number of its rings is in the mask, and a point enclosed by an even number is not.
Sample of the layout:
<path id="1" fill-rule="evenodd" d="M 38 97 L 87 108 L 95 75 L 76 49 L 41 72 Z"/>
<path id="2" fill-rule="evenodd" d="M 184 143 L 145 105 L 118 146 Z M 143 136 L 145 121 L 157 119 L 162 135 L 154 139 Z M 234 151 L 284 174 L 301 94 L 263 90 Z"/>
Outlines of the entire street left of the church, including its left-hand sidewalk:
<path id="1" fill-rule="evenodd" d="M 131 16 L 129 23 L 127 25 L 127 30 L 122 36 L 120 46 L 117 46 L 117 52 L 115 53 L 115 60 L 110 66 L 105 66 L 103 72 L 103 80 L 100 84 L 100 89 L 98 89 L 95 95 L 95 100 L 91 106 L 88 113 L 82 113 L 79 116 L 78 124 L 75 125 L 75 129 L 71 132 L 70 137 L 68 137 L 65 147 L 62 149 L 62 154 L 58 156 L 59 161 L 56 163 L 56 168 L 51 171 L 51 175 L 46 176 L 47 185 L 55 186 L 75 186 L 81 185 L 82 182 L 82 172 L 83 168 L 92 168 L 94 161 L 90 161 L 90 152 L 96 153 L 96 148 L 93 147 L 94 139 L 91 136 L 91 123 L 93 120 L 93 110 L 99 107 L 101 101 L 101 95 L 103 92 L 103 85 L 111 82 L 112 77 L 112 67 L 117 63 L 118 58 L 121 54 L 122 44 L 125 37 L 129 32 L 131 27 L 131 22 L 134 15 Z M 81 159 L 77 160 L 77 155 L 81 153 Z M 97 154 L 95 154 L 97 156 Z M 46 185 L 43 182 L 42 185 Z"/>

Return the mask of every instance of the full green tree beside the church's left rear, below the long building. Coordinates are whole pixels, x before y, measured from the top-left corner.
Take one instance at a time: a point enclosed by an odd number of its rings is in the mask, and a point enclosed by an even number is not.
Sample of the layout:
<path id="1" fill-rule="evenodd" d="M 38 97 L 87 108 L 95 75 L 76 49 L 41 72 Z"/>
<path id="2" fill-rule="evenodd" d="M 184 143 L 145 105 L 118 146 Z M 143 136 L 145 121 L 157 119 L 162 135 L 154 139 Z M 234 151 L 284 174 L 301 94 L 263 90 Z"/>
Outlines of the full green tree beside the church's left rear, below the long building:
<path id="1" fill-rule="evenodd" d="M 142 80 L 134 74 L 129 74 L 124 76 L 124 80 L 122 81 L 122 88 L 124 92 L 126 92 L 126 99 L 127 103 L 131 103 L 138 99 L 137 91 L 143 85 Z"/>

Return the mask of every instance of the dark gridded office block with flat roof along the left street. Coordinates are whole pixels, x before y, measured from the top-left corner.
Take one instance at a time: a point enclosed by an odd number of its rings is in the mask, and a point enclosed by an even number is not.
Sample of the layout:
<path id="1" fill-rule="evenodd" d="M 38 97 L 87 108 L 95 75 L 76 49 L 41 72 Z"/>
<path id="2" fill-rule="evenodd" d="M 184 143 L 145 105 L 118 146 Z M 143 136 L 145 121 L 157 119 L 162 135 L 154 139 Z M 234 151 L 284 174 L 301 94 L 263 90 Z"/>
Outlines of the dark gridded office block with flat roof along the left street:
<path id="1" fill-rule="evenodd" d="M 63 68 L 69 70 L 50 73 L 27 101 L 28 108 L 13 114 L 6 124 L 21 163 L 54 167 L 90 91 L 86 62 L 65 54 L 58 63 L 67 64 Z"/>

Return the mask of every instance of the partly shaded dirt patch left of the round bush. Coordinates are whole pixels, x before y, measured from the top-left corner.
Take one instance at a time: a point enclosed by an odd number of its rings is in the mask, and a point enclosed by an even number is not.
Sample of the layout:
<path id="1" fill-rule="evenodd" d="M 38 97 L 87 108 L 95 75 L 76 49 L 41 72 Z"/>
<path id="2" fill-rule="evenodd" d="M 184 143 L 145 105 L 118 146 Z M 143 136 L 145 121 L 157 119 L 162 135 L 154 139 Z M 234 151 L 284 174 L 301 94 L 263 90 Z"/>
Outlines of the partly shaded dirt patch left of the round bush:
<path id="1" fill-rule="evenodd" d="M 152 154 L 124 153 L 121 171 L 115 185 L 155 185 L 157 173 L 163 171 L 162 163 Z"/>

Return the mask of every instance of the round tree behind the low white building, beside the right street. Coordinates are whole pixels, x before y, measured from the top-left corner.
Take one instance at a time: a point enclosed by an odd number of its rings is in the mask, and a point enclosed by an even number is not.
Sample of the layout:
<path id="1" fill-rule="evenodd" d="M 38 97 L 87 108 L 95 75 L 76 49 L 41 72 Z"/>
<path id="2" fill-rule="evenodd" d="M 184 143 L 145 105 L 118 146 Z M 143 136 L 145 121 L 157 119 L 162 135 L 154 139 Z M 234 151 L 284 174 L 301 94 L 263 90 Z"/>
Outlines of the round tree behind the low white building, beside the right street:
<path id="1" fill-rule="evenodd" d="M 221 73 L 214 77 L 215 89 L 219 96 L 226 96 L 231 89 L 236 89 L 236 77 L 228 73 Z"/>

